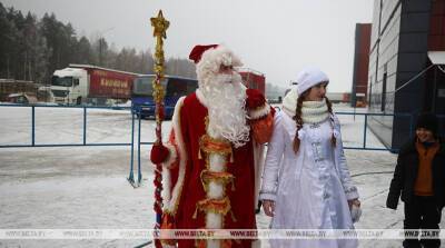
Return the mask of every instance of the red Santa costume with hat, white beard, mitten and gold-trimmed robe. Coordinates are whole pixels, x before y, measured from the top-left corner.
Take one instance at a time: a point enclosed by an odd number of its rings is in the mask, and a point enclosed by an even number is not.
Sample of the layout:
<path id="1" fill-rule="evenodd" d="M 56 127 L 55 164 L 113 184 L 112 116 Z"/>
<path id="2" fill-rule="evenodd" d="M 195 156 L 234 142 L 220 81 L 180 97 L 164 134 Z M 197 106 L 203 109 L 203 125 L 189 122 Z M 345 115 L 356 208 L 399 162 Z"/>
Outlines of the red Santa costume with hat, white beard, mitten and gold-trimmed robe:
<path id="1" fill-rule="evenodd" d="M 161 228 L 255 229 L 263 143 L 271 136 L 274 110 L 264 96 L 246 89 L 240 76 L 220 68 L 241 66 L 222 46 L 197 46 L 199 88 L 179 99 L 164 161 L 165 210 Z M 166 159 L 159 158 L 168 155 Z M 251 247 L 251 240 L 162 240 L 178 247 Z"/>

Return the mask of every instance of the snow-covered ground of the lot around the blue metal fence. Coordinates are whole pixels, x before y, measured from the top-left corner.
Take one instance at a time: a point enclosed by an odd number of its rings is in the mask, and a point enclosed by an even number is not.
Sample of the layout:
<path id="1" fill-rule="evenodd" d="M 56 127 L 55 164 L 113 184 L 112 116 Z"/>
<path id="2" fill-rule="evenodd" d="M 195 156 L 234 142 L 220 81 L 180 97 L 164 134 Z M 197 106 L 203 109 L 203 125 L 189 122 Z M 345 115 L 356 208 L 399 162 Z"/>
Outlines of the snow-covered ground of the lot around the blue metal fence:
<path id="1" fill-rule="evenodd" d="M 353 109 L 337 106 L 337 111 Z M 36 143 L 81 143 L 82 109 L 37 108 Z M 363 111 L 363 110 L 362 110 Z M 358 111 L 357 111 L 358 112 Z M 363 146 L 363 116 L 340 116 L 345 146 Z M 165 122 L 165 136 L 170 123 Z M 142 120 L 141 140 L 152 141 L 155 122 Z M 131 116 L 89 109 L 87 142 L 130 142 Z M 367 147 L 383 146 L 368 131 Z M 31 110 L 0 107 L 0 146 L 31 141 Z M 154 226 L 150 146 L 142 146 L 144 183 L 127 182 L 129 147 L 0 149 L 0 229 L 150 229 Z M 403 227 L 403 205 L 385 208 L 396 155 L 346 150 L 363 205 L 356 228 Z M 135 163 L 136 165 L 136 163 Z M 135 175 L 137 176 L 137 175 Z M 258 215 L 258 227 L 269 218 Z M 147 240 L 0 240 L 0 247 L 135 247 Z M 267 241 L 263 247 L 268 247 Z M 360 240 L 359 247 L 400 247 L 400 240 Z M 445 246 L 443 246 L 445 247 Z"/>

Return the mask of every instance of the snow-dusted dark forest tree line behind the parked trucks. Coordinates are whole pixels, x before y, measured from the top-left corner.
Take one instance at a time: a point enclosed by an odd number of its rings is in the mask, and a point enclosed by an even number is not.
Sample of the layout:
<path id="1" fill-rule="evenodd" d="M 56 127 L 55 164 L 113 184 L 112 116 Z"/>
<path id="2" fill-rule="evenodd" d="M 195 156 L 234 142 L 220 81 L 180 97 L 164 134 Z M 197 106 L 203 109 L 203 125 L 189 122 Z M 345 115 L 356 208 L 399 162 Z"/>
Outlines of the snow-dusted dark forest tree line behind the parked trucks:
<path id="1" fill-rule="evenodd" d="M 154 72 L 150 49 L 117 50 L 105 38 L 78 37 L 72 26 L 57 20 L 55 13 L 38 19 L 0 2 L 0 78 L 49 85 L 53 71 L 69 63 Z M 166 73 L 196 78 L 195 65 L 182 58 L 168 59 Z"/>

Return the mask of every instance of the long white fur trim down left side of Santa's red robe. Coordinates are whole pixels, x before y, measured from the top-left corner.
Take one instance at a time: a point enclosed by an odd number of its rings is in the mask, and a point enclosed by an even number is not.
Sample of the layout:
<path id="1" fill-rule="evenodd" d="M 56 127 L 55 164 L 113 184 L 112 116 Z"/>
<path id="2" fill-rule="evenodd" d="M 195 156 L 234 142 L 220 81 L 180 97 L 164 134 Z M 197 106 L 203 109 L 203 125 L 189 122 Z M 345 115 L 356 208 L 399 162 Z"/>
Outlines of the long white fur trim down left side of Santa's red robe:
<path id="1" fill-rule="evenodd" d="M 175 207 L 177 201 L 179 200 L 181 190 L 182 190 L 182 185 L 184 185 L 184 178 L 186 176 L 186 165 L 187 165 L 187 153 L 186 153 L 186 147 L 184 143 L 184 139 L 182 139 L 182 132 L 180 130 L 180 109 L 182 108 L 184 105 L 184 99 L 186 97 L 181 97 L 179 98 L 178 102 L 176 103 L 175 107 L 175 112 L 174 112 L 174 117 L 171 119 L 171 127 L 175 131 L 175 139 L 176 139 L 176 143 L 178 147 L 178 151 L 179 151 L 179 173 L 178 173 L 178 180 L 171 191 L 171 198 L 169 200 L 166 200 L 165 206 L 166 209 L 169 210 L 170 212 L 176 214 Z M 166 189 L 166 190 L 169 190 Z"/>

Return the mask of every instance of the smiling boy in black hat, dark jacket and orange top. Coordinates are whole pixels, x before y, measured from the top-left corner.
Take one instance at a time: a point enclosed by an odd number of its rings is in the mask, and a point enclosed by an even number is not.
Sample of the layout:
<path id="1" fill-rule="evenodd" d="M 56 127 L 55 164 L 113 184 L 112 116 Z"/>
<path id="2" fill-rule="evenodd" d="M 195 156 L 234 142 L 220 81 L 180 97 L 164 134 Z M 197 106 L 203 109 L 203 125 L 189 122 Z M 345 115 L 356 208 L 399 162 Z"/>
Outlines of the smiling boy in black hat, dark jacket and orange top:
<path id="1" fill-rule="evenodd" d="M 386 207 L 396 209 L 398 198 L 405 204 L 404 228 L 414 229 L 405 236 L 404 247 L 439 247 L 438 224 L 445 205 L 445 143 L 437 136 L 438 121 L 433 113 L 422 113 L 416 136 L 402 147 L 394 178 L 390 181 Z M 435 229 L 417 239 L 419 229 Z M 436 238 L 437 237 L 437 238 Z"/>

